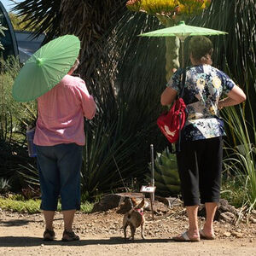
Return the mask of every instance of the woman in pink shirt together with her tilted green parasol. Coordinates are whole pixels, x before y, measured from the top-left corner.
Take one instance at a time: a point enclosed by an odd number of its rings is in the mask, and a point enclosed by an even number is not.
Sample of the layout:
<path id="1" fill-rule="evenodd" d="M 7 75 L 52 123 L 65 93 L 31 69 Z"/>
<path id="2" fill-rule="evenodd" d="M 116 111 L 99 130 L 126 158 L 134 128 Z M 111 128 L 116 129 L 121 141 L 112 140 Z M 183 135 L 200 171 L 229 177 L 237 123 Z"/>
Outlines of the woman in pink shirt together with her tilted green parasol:
<path id="1" fill-rule="evenodd" d="M 73 218 L 80 208 L 80 170 L 85 143 L 84 117 L 92 119 L 96 103 L 83 79 L 72 74 L 79 66 L 80 41 L 73 35 L 55 38 L 32 55 L 15 79 L 16 101 L 38 99 L 36 145 L 44 240 L 55 239 L 53 220 L 61 196 L 62 241 L 79 240 Z"/>

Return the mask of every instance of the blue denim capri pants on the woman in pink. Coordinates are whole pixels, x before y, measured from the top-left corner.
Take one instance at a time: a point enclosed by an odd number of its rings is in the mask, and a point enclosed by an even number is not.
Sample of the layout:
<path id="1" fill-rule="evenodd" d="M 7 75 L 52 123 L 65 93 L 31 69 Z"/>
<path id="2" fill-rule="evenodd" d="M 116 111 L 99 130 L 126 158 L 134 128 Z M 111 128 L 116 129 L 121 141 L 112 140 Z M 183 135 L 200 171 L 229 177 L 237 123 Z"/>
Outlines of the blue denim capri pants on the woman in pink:
<path id="1" fill-rule="evenodd" d="M 41 209 L 56 211 L 61 195 L 62 211 L 79 210 L 83 146 L 63 143 L 36 148 L 42 194 Z"/>

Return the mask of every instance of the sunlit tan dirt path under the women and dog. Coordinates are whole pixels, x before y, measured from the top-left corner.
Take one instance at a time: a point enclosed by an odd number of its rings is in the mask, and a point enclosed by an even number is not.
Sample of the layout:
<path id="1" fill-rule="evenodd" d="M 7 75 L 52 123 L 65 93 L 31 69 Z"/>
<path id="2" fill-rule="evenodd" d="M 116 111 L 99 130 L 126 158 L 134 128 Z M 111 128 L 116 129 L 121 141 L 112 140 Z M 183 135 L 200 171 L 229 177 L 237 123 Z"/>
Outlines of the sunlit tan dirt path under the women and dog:
<path id="1" fill-rule="evenodd" d="M 125 242 L 122 215 L 115 212 L 76 214 L 75 231 L 80 241 L 62 242 L 61 214 L 55 215 L 56 241 L 43 241 L 41 214 L 0 212 L 0 255 L 256 255 L 256 224 L 215 224 L 215 241 L 180 243 L 170 237 L 182 232 L 187 219 L 146 216 L 145 241 L 139 230 L 136 241 Z M 241 238 L 238 238 L 241 237 Z"/>

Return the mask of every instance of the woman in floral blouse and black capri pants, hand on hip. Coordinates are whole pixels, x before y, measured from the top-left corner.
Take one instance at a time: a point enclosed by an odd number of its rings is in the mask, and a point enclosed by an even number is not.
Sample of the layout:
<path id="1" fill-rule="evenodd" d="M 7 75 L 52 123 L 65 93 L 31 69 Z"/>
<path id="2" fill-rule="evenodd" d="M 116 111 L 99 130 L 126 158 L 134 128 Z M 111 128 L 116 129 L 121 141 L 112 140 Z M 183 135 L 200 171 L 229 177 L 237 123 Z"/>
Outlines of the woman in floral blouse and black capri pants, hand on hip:
<path id="1" fill-rule="evenodd" d="M 222 172 L 224 123 L 218 110 L 246 100 L 244 92 L 223 72 L 212 67 L 212 42 L 203 36 L 189 41 L 191 67 L 186 68 L 183 100 L 188 117 L 181 133 L 177 166 L 183 204 L 189 216 L 189 230 L 175 241 L 214 239 L 213 218 L 218 206 Z M 181 90 L 183 69 L 178 69 L 161 95 L 161 104 L 170 105 Z M 222 95 L 227 95 L 220 100 Z M 207 219 L 199 230 L 198 206 L 204 203 Z"/>

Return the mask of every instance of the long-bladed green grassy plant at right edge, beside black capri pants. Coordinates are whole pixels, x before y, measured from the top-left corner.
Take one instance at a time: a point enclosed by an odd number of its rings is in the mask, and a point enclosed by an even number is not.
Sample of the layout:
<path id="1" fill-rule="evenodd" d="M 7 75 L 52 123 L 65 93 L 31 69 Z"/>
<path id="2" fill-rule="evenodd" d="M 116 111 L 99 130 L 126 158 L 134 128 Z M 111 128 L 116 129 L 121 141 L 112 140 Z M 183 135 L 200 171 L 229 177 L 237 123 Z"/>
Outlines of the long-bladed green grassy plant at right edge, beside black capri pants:
<path id="1" fill-rule="evenodd" d="M 250 107 L 250 102 L 249 107 Z M 241 186 L 241 202 L 250 212 L 256 208 L 256 126 L 251 110 L 252 124 L 248 124 L 241 106 L 224 109 L 224 118 L 233 131 L 236 146 L 226 148 L 227 157 L 224 158 L 225 171 L 234 175 L 234 182 Z M 253 135 L 248 132 L 253 127 Z M 233 182 L 233 183 L 234 183 Z M 235 193 L 236 190 L 233 191 Z"/>

